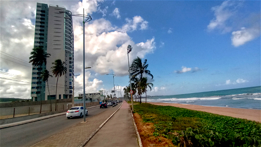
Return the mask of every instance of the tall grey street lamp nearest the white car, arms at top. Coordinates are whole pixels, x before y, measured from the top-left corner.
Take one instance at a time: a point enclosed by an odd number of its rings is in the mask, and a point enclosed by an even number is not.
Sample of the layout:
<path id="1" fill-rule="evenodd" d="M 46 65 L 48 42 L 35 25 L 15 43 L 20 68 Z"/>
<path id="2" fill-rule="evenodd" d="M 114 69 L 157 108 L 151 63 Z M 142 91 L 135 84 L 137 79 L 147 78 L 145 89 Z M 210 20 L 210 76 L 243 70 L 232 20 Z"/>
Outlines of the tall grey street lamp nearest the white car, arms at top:
<path id="1" fill-rule="evenodd" d="M 92 20 L 92 17 L 90 15 L 84 15 L 84 8 L 83 8 L 83 14 L 75 14 L 72 15 L 68 12 L 65 11 L 59 11 L 59 13 L 67 13 L 70 17 L 64 17 L 65 19 L 70 19 L 71 16 L 78 16 L 78 17 L 83 17 L 83 110 L 85 112 L 85 23 L 90 22 Z M 85 20 L 86 19 L 86 20 Z M 74 81 L 73 81 L 74 82 Z M 84 122 L 86 119 L 85 114 L 83 115 Z"/>

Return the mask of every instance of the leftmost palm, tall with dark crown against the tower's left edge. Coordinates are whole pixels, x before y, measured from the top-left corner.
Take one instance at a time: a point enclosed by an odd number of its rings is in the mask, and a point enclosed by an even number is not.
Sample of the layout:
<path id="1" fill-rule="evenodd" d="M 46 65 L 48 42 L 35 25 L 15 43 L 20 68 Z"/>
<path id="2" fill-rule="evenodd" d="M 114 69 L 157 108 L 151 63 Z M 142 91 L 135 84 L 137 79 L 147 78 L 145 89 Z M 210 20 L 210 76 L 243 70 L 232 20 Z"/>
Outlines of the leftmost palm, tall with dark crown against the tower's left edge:
<path id="1" fill-rule="evenodd" d="M 46 53 L 43 48 L 37 47 L 33 48 L 33 50 L 30 52 L 32 56 L 29 57 L 29 63 L 32 63 L 33 66 L 38 67 L 40 66 L 40 73 L 42 71 L 42 66 L 43 64 L 46 65 L 46 59 L 50 57 L 51 54 Z M 40 96 L 41 96 L 41 107 L 40 107 L 40 113 L 42 113 L 42 87 L 43 84 L 41 83 L 41 91 L 40 91 Z"/>

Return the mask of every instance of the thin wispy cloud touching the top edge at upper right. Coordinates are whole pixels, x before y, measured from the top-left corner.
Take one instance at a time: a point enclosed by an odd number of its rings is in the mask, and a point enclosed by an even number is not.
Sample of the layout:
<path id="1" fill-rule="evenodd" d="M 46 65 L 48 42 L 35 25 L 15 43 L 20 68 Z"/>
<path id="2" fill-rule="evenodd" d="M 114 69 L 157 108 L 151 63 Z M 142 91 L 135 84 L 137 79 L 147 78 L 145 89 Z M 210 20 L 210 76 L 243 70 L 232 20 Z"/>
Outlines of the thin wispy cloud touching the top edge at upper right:
<path id="1" fill-rule="evenodd" d="M 237 7 L 240 3 L 235 1 L 224 1 L 221 5 L 212 7 L 214 11 L 214 19 L 207 26 L 208 30 L 219 29 L 222 33 L 230 32 L 232 27 L 227 25 L 227 21 L 235 15 Z"/>

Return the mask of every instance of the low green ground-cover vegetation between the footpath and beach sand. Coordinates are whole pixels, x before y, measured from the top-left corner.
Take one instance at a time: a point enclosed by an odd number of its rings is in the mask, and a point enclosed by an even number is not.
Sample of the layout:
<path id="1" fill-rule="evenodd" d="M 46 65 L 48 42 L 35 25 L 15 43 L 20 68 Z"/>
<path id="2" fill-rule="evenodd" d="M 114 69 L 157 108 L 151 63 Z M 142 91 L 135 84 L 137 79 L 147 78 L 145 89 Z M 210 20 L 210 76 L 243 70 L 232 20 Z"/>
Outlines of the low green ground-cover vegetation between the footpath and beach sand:
<path id="1" fill-rule="evenodd" d="M 261 123 L 148 103 L 134 105 L 154 136 L 182 147 L 261 147 Z"/>

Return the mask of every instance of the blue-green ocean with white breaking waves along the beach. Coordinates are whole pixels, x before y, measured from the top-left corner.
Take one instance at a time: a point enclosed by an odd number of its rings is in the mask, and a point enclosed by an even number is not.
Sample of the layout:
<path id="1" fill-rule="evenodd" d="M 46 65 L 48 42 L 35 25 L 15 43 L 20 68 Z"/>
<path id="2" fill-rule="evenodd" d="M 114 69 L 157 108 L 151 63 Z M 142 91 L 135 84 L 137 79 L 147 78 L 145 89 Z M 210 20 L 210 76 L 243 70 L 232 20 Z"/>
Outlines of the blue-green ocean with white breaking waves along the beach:
<path id="1" fill-rule="evenodd" d="M 142 102 L 143 101 L 145 101 L 145 98 L 142 98 Z M 183 95 L 149 97 L 147 98 L 147 102 L 261 109 L 261 86 Z"/>

